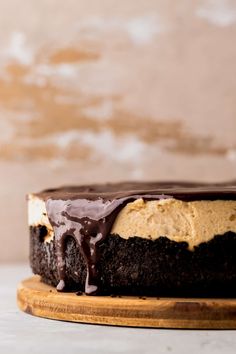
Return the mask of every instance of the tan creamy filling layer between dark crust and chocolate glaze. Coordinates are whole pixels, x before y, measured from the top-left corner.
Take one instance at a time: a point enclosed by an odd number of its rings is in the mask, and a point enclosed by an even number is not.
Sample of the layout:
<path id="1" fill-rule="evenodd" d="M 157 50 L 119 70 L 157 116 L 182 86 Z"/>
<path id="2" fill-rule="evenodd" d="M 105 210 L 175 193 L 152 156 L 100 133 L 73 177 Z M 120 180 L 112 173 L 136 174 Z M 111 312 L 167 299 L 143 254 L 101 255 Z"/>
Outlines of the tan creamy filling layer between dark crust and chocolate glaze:
<path id="1" fill-rule="evenodd" d="M 53 229 L 46 213 L 45 202 L 29 196 L 29 225 L 44 225 L 48 229 L 45 242 L 53 238 Z M 124 239 L 138 236 L 157 239 L 166 236 L 176 242 L 185 241 L 189 248 L 211 240 L 227 231 L 236 233 L 236 201 L 192 201 L 176 199 L 128 203 L 118 214 L 111 233 Z"/>

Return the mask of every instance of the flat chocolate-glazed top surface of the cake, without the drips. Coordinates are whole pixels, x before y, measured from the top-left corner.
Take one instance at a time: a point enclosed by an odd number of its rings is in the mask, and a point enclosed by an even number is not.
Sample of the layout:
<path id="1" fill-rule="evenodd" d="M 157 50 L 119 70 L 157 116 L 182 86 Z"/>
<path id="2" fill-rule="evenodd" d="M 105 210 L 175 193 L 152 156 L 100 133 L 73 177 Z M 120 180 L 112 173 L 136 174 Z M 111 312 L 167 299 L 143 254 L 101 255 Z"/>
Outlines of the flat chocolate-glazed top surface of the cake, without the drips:
<path id="1" fill-rule="evenodd" d="M 226 183 L 197 182 L 119 182 L 64 186 L 35 193 L 42 199 L 74 200 L 88 199 L 104 201 L 135 196 L 140 198 L 181 200 L 236 199 L 236 181 Z"/>

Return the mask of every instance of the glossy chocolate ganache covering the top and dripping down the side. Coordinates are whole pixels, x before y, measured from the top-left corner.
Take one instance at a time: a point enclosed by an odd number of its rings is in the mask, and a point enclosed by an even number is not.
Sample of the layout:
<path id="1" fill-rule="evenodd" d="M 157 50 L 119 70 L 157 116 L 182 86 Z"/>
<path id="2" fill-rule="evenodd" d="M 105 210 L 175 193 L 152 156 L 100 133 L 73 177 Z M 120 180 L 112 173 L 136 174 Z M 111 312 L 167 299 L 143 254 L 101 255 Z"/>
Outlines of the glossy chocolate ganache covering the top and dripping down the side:
<path id="1" fill-rule="evenodd" d="M 66 240 L 73 237 L 87 265 L 85 293 L 95 295 L 100 290 L 98 245 L 109 235 L 117 214 L 127 203 L 139 198 L 145 201 L 169 198 L 183 201 L 235 200 L 236 184 L 128 182 L 63 187 L 38 195 L 46 202 L 54 230 L 60 279 L 57 290 L 66 289 Z"/>

